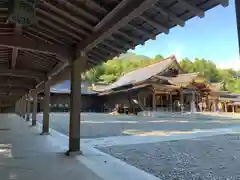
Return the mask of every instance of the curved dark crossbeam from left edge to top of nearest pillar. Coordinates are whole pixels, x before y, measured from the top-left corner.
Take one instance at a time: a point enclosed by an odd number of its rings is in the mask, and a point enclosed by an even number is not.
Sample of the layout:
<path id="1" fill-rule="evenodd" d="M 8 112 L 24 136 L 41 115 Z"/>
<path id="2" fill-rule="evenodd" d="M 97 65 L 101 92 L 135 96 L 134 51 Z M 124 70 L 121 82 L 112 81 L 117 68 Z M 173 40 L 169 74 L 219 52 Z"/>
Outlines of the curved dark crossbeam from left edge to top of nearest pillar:
<path id="1" fill-rule="evenodd" d="M 0 36 L 0 47 L 18 48 L 45 54 L 55 54 L 61 56 L 66 61 L 71 59 L 70 51 L 62 46 L 48 44 L 40 40 L 32 40 L 20 35 Z"/>

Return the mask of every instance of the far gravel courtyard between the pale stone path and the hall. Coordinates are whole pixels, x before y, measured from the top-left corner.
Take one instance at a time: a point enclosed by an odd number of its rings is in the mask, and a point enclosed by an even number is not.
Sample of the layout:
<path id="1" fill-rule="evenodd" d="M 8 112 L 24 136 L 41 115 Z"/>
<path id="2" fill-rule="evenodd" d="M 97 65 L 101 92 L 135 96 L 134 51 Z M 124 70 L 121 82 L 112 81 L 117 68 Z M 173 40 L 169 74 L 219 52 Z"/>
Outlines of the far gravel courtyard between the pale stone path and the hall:
<path id="1" fill-rule="evenodd" d="M 82 113 L 81 137 L 99 138 L 134 135 L 135 133 L 214 129 L 240 126 L 240 118 L 214 117 L 209 115 L 160 114 L 158 117 L 112 116 L 100 113 Z M 42 121 L 42 114 L 38 114 Z M 50 127 L 68 134 L 69 114 L 51 113 Z"/>

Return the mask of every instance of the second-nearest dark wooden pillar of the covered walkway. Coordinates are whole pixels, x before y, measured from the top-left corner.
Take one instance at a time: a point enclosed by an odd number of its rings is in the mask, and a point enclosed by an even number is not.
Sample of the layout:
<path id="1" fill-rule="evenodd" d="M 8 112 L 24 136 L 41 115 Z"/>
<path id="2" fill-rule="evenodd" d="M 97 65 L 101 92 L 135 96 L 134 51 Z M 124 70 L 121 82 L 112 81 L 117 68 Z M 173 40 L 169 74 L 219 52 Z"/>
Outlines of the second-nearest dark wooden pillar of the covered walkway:
<path id="1" fill-rule="evenodd" d="M 44 84 L 44 99 L 43 99 L 43 125 L 42 135 L 49 134 L 49 104 L 50 104 L 50 84 L 49 81 Z"/>

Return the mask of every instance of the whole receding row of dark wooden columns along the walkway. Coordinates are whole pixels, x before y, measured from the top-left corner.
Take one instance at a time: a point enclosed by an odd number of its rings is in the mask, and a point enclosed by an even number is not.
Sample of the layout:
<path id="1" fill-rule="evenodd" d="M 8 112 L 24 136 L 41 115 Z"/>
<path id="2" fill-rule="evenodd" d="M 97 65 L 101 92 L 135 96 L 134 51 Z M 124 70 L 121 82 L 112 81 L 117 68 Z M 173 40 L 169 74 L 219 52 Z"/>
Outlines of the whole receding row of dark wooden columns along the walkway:
<path id="1" fill-rule="evenodd" d="M 76 59 L 76 58 L 75 58 Z M 84 71 L 86 65 L 86 56 L 81 54 L 80 58 L 71 64 L 71 94 L 70 94 L 70 121 L 69 121 L 69 150 L 67 155 L 72 152 L 80 151 L 80 112 L 81 112 L 81 72 Z M 37 93 L 32 92 L 33 108 L 32 108 L 32 126 L 36 125 L 37 119 Z M 31 98 L 23 96 L 16 103 L 16 112 L 30 120 Z M 49 134 L 49 113 L 50 113 L 50 83 L 47 81 L 44 86 L 43 100 L 43 124 L 42 135 Z"/>

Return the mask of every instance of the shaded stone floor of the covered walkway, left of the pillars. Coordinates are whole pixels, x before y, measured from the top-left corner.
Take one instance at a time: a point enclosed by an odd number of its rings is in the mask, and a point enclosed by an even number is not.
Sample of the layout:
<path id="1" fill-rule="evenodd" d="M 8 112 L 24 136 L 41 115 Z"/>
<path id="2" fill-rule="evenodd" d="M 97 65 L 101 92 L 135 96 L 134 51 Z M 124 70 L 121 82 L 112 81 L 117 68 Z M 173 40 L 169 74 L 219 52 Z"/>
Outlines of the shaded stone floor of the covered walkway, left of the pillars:
<path id="1" fill-rule="evenodd" d="M 17 115 L 0 114 L 1 180 L 101 180 L 77 158 L 64 156 L 51 135 L 39 133 Z"/>

